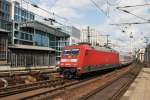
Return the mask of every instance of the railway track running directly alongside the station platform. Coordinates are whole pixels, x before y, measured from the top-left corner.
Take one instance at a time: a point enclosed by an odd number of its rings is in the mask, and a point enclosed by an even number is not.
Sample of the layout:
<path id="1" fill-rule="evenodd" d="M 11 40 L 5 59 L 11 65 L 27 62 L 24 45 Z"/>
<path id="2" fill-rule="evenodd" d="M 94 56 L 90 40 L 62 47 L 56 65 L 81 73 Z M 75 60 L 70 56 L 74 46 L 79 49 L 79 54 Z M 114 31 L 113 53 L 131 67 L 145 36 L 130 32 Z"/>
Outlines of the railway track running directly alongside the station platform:
<path id="1" fill-rule="evenodd" d="M 104 84 L 103 86 L 98 87 L 94 91 L 91 91 L 90 93 L 80 97 L 79 100 L 88 100 L 88 99 L 92 98 L 94 95 L 96 95 L 96 94 L 100 93 L 101 91 L 103 91 L 104 89 L 108 88 L 108 86 L 111 86 L 112 84 L 121 81 L 124 84 L 122 84 L 122 86 L 114 94 L 112 94 L 112 96 L 107 97 L 107 99 L 106 99 L 106 100 L 119 100 L 119 98 L 122 96 L 122 94 L 127 90 L 127 88 L 130 86 L 130 84 L 134 81 L 134 79 L 138 75 L 141 68 L 139 68 L 136 72 L 132 72 L 132 70 L 134 70 L 134 69 L 135 68 L 132 68 L 129 72 L 119 76 L 116 79 L 113 79 L 112 81 Z M 111 92 L 111 93 L 113 93 L 113 92 Z M 103 98 L 103 100 L 105 100 L 105 99 Z"/>

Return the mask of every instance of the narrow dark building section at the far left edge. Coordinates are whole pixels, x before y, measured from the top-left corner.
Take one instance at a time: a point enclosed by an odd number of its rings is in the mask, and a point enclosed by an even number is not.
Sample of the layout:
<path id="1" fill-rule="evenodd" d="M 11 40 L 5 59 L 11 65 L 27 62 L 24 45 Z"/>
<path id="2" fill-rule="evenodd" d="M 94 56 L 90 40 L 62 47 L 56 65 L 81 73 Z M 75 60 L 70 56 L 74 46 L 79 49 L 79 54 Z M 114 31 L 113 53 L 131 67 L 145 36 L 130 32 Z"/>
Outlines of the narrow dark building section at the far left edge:
<path id="1" fill-rule="evenodd" d="M 11 3 L 7 0 L 0 0 L 0 65 L 7 64 L 8 57 L 8 36 L 12 29 Z"/>

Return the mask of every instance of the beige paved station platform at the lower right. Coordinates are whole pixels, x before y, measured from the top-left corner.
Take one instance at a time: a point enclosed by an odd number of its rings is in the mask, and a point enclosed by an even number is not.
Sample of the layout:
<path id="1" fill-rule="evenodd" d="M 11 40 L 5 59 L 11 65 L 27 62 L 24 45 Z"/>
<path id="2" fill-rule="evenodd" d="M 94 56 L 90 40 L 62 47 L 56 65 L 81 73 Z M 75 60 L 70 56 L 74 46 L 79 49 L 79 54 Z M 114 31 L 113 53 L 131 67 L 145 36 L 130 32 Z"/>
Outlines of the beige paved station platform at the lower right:
<path id="1" fill-rule="evenodd" d="M 120 100 L 150 100 L 150 68 L 142 68 Z"/>

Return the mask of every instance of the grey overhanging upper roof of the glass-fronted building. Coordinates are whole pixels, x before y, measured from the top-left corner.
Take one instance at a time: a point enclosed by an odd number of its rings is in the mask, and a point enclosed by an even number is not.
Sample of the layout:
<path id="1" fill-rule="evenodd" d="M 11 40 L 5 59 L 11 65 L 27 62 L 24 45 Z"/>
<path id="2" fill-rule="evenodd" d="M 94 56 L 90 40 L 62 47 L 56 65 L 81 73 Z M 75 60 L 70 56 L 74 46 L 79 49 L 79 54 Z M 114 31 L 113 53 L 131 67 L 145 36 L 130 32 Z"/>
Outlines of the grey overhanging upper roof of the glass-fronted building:
<path id="1" fill-rule="evenodd" d="M 70 35 L 67 33 L 64 33 L 62 31 L 59 31 L 56 28 L 53 28 L 51 26 L 48 26 L 46 24 L 43 24 L 39 21 L 29 21 L 29 22 L 25 22 L 25 23 L 21 23 L 20 27 L 31 27 L 31 28 L 35 28 L 36 30 L 40 30 L 43 32 L 47 32 L 50 34 L 53 34 L 55 36 L 64 36 L 64 37 L 69 37 Z"/>

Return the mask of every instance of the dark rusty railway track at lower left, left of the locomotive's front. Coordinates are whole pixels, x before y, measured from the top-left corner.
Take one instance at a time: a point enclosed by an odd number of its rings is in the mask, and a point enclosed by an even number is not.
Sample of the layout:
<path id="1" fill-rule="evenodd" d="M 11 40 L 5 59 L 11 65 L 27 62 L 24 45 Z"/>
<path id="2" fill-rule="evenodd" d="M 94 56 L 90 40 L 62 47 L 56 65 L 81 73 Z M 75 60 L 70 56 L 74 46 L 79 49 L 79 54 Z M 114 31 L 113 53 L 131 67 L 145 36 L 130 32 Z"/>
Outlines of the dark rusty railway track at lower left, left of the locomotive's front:
<path id="1" fill-rule="evenodd" d="M 6 97 L 10 95 L 19 94 L 22 92 L 27 92 L 39 88 L 45 88 L 45 87 L 54 87 L 58 85 L 62 85 L 66 82 L 66 80 L 58 79 L 58 80 L 47 80 L 47 81 L 41 81 L 31 84 L 21 84 L 16 86 L 11 86 L 7 88 L 0 88 L 0 97 Z"/>

